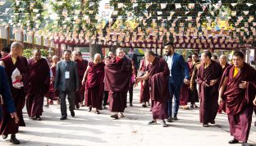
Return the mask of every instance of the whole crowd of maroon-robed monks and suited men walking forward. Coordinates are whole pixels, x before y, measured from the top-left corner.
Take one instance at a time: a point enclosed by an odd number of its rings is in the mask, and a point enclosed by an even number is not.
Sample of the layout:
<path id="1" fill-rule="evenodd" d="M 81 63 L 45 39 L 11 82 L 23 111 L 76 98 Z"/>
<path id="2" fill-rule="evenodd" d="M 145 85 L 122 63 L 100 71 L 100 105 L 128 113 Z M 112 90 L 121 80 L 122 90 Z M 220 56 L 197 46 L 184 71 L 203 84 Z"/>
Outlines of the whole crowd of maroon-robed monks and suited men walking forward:
<path id="1" fill-rule="evenodd" d="M 60 120 L 67 119 L 66 98 L 71 116 L 75 108 L 87 106 L 95 113 L 109 104 L 111 117 L 125 117 L 127 94 L 132 107 L 133 86 L 141 83 L 139 102 L 142 107 L 151 106 L 154 125 L 160 120 L 163 127 L 167 122 L 178 120 L 179 107 L 197 107 L 199 121 L 203 127 L 215 124 L 217 112 L 226 112 L 234 139 L 229 144 L 247 144 L 254 105 L 256 105 L 256 71 L 244 62 L 244 54 L 235 52 L 232 65 L 226 63 L 226 56 L 220 62 L 212 59 L 211 52 L 203 52 L 201 61 L 194 53 L 185 62 L 181 54 L 175 52 L 172 43 L 165 44 L 165 57 L 157 57 L 154 52 L 144 53 L 138 73 L 135 62 L 127 57 L 122 48 L 117 48 L 116 56 L 109 52 L 107 57 L 94 55 L 93 62 L 83 60 L 81 52 L 64 50 L 62 60 L 53 56 L 53 63 L 41 57 L 40 50 L 34 50 L 33 57 L 22 57 L 23 45 L 11 44 L 11 52 L 1 58 L 5 67 L 11 95 L 19 118 L 18 124 L 7 112 L 3 104 L 0 135 L 11 143 L 20 144 L 16 139 L 19 126 L 25 126 L 22 109 L 26 106 L 28 115 L 41 121 L 43 98 L 47 103 L 57 100 L 61 107 Z"/>

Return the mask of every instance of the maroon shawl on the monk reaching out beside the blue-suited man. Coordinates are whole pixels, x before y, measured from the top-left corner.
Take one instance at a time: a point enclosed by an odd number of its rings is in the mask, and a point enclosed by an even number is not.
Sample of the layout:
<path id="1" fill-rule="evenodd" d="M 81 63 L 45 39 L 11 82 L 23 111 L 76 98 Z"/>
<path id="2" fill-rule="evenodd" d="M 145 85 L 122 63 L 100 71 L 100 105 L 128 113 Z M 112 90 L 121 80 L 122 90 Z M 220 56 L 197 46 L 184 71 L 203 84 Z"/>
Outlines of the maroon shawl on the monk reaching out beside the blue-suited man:
<path id="1" fill-rule="evenodd" d="M 168 77 L 170 71 L 162 58 L 155 57 L 152 65 L 149 65 L 149 87 L 151 88 L 150 97 L 154 101 L 164 102 L 169 97 Z"/>

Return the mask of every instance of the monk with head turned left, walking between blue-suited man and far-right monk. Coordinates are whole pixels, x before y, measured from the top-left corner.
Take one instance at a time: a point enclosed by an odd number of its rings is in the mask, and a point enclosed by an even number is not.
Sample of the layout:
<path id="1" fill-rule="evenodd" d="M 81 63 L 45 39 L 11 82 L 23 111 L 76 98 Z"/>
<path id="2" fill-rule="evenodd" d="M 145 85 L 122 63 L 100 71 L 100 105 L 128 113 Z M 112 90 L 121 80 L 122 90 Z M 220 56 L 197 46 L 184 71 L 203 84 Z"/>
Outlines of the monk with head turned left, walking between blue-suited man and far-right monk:
<path id="1" fill-rule="evenodd" d="M 202 65 L 199 67 L 197 83 L 199 84 L 200 97 L 200 122 L 203 127 L 208 127 L 208 123 L 215 124 L 217 115 L 218 85 L 222 78 L 222 66 L 211 60 L 212 54 L 209 51 L 201 55 Z"/>

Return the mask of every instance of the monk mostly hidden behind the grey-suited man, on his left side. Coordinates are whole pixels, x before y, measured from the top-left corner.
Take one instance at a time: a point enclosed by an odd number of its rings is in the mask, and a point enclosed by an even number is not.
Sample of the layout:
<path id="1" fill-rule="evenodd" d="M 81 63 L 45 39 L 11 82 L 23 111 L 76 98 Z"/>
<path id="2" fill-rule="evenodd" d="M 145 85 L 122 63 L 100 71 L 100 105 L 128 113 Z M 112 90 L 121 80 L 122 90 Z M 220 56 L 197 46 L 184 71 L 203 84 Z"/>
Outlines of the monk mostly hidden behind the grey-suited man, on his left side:
<path id="1" fill-rule="evenodd" d="M 59 61 L 59 57 L 57 57 L 57 55 L 53 56 L 53 64 L 50 67 L 50 70 L 53 72 L 53 76 L 51 77 L 50 80 L 50 88 L 48 93 L 45 95 L 45 97 L 47 98 L 47 105 L 45 105 L 45 107 L 48 107 L 49 104 L 53 104 L 53 100 L 57 100 L 57 103 L 59 104 L 59 96 L 57 92 L 54 92 L 54 80 L 56 77 L 56 66 L 57 66 L 57 62 Z M 49 101 L 50 99 L 50 101 Z"/>

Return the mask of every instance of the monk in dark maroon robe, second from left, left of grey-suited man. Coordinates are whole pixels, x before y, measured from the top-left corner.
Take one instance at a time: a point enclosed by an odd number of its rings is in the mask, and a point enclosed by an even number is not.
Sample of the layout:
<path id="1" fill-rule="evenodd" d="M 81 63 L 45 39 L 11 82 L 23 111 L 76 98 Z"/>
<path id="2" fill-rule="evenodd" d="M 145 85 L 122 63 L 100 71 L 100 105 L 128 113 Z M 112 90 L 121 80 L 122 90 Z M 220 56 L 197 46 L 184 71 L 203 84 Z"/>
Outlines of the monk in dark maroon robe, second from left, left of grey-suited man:
<path id="1" fill-rule="evenodd" d="M 47 60 L 41 57 L 40 50 L 34 50 L 33 58 L 29 60 L 29 76 L 27 112 L 32 119 L 41 121 L 43 98 L 50 86 L 50 67 Z"/>

